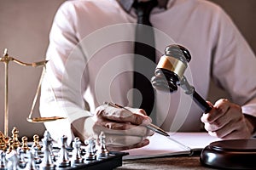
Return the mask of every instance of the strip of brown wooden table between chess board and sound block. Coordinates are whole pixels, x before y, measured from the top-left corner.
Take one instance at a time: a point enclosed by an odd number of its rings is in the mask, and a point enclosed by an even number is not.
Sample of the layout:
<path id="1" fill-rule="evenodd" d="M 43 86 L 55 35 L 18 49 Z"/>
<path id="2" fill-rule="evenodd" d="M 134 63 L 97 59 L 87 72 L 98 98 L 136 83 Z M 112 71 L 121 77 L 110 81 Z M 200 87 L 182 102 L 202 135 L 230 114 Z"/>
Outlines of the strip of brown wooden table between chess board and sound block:
<path id="1" fill-rule="evenodd" d="M 203 167 L 199 156 L 171 156 L 158 157 L 138 160 L 124 160 L 123 166 L 116 168 L 116 170 L 170 170 L 170 169 L 213 169 L 210 167 Z"/>

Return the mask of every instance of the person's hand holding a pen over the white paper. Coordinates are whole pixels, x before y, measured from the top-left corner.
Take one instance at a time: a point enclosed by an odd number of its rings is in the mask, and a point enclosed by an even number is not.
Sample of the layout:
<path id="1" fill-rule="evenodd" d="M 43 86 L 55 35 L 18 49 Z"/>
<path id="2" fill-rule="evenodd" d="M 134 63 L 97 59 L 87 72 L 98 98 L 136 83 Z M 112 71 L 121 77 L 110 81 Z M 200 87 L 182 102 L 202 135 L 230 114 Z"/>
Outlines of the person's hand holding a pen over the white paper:
<path id="1" fill-rule="evenodd" d="M 129 111 L 108 105 L 96 108 L 92 130 L 106 134 L 108 150 L 128 150 L 149 143 L 146 138 L 153 132 L 145 126 L 152 122 L 151 118 L 141 109 L 127 109 Z"/>

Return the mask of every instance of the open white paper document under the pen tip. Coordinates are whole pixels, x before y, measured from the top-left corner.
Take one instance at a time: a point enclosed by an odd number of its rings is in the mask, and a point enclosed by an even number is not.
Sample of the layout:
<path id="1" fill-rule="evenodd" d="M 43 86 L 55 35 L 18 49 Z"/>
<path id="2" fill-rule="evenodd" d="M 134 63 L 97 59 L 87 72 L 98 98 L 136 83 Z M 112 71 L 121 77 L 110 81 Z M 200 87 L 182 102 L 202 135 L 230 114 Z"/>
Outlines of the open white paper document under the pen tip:
<path id="1" fill-rule="evenodd" d="M 218 141 L 208 133 L 169 133 L 170 137 L 154 133 L 148 137 L 149 144 L 138 149 L 125 150 L 129 155 L 124 159 L 140 159 L 158 156 L 175 156 L 193 154 L 195 150 L 202 150 L 208 144 Z"/>

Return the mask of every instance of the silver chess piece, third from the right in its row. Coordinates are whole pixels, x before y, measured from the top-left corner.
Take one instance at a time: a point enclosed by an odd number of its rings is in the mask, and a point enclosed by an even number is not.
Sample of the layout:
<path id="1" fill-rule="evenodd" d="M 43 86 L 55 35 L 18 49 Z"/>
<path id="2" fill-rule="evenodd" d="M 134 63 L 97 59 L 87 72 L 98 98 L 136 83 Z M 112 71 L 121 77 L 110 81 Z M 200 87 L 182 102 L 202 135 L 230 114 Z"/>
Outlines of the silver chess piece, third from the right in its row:
<path id="1" fill-rule="evenodd" d="M 72 165 L 77 165 L 79 163 L 83 163 L 84 158 L 81 156 L 81 142 L 77 137 L 73 141 L 73 154 L 72 154 Z"/>

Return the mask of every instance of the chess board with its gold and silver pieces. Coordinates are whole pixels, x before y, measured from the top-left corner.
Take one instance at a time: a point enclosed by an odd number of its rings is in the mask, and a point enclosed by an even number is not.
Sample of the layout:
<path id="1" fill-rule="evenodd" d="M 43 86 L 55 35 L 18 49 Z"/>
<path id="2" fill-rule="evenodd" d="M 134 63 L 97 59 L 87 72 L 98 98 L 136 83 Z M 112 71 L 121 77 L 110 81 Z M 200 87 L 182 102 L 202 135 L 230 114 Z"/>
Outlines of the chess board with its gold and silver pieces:
<path id="1" fill-rule="evenodd" d="M 87 139 L 84 145 L 75 138 L 71 146 L 67 145 L 67 137 L 61 137 L 61 143 L 56 145 L 49 132 L 45 131 L 44 138 L 33 136 L 29 143 L 26 137 L 22 142 L 18 139 L 16 127 L 12 131 L 12 138 L 7 138 L 0 132 L 0 170 L 9 169 L 88 169 L 111 170 L 122 166 L 123 156 L 127 152 L 108 151 L 105 146 L 105 134 L 96 139 Z"/>

